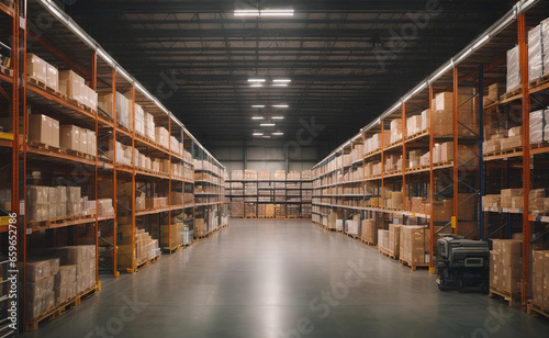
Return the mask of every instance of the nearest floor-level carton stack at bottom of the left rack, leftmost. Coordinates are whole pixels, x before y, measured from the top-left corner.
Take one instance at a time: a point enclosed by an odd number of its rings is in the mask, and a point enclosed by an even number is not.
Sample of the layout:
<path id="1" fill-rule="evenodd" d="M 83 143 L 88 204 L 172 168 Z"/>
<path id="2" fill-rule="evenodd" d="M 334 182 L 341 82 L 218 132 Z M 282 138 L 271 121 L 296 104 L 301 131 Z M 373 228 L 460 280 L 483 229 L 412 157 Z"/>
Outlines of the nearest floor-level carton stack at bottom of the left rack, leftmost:
<path id="1" fill-rule="evenodd" d="M 26 318 L 33 319 L 55 307 L 55 275 L 59 259 L 32 259 L 26 262 Z"/>

